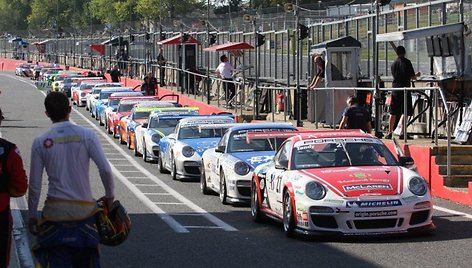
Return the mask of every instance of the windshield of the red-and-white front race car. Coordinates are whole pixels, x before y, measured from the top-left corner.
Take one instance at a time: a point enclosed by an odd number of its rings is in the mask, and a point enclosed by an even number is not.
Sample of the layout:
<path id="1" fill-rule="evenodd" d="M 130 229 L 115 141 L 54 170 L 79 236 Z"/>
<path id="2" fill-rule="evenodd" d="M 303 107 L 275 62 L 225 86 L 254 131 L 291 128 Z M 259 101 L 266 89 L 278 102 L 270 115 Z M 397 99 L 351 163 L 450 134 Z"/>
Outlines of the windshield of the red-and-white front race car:
<path id="1" fill-rule="evenodd" d="M 398 165 L 385 145 L 361 140 L 346 142 L 329 139 L 327 142 L 316 140 L 313 143 L 297 143 L 292 153 L 292 169 Z"/>

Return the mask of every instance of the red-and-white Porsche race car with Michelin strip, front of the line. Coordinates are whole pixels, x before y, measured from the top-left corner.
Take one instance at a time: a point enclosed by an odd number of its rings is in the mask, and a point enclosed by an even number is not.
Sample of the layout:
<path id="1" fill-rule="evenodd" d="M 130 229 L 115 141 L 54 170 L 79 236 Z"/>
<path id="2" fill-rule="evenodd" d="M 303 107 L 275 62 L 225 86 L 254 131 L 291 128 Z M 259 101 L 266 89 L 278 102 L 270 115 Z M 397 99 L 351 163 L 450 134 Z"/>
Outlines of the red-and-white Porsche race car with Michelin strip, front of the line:
<path id="1" fill-rule="evenodd" d="M 431 232 L 431 195 L 412 165 L 362 131 L 297 134 L 254 171 L 251 215 L 282 221 L 288 236 Z"/>

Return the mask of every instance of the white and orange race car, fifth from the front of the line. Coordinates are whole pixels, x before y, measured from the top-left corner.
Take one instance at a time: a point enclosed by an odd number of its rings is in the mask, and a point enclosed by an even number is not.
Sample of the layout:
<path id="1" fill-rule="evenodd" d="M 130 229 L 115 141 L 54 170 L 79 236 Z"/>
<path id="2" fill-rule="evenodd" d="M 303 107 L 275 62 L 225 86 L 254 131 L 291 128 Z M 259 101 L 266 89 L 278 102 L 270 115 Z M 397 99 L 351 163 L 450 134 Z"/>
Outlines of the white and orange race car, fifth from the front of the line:
<path id="1" fill-rule="evenodd" d="M 156 101 L 136 104 L 131 113 L 120 120 L 119 136 L 120 144 L 126 144 L 128 149 L 135 150 L 135 130 L 136 127 L 146 122 L 149 114 L 159 108 L 174 107 L 171 102 Z M 137 151 L 134 154 L 138 156 Z"/>

